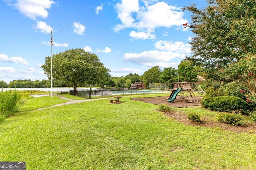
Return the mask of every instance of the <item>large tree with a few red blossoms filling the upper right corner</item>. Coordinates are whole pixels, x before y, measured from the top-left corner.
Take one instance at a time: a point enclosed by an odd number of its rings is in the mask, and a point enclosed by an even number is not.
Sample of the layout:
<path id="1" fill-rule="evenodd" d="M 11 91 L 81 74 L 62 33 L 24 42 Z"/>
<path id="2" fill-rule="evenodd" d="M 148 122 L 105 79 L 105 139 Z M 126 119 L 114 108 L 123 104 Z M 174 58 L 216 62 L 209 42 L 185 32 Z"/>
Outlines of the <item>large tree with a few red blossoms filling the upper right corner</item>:
<path id="1" fill-rule="evenodd" d="M 239 80 L 252 95 L 256 90 L 256 0 L 208 0 L 192 12 L 191 61 L 224 78 Z"/>

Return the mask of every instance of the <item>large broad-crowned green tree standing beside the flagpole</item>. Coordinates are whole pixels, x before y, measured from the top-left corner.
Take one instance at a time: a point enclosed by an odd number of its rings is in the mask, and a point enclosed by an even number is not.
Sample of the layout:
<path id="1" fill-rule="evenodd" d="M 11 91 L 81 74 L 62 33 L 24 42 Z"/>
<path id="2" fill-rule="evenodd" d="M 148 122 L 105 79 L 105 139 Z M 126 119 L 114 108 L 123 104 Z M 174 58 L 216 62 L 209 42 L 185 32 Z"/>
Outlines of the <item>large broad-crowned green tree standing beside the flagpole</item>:
<path id="1" fill-rule="evenodd" d="M 96 54 L 85 52 L 84 49 L 70 49 L 52 56 L 53 77 L 63 84 L 77 86 L 93 85 L 106 79 L 108 69 L 100 62 Z M 46 57 L 42 65 L 48 78 L 51 77 L 51 57 Z"/>

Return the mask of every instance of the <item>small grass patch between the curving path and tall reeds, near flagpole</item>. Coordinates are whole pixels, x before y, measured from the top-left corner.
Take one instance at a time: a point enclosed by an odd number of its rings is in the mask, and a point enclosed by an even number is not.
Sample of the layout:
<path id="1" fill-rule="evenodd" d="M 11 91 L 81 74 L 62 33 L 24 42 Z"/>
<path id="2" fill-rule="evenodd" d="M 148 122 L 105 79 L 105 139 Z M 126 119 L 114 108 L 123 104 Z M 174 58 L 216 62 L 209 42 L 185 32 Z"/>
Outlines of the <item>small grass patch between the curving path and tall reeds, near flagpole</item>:
<path id="1" fill-rule="evenodd" d="M 19 111 L 30 111 L 42 107 L 49 107 L 55 104 L 66 103 L 68 100 L 61 99 L 57 96 L 43 96 L 37 98 L 31 98 L 25 101 L 25 103 L 20 106 Z"/>

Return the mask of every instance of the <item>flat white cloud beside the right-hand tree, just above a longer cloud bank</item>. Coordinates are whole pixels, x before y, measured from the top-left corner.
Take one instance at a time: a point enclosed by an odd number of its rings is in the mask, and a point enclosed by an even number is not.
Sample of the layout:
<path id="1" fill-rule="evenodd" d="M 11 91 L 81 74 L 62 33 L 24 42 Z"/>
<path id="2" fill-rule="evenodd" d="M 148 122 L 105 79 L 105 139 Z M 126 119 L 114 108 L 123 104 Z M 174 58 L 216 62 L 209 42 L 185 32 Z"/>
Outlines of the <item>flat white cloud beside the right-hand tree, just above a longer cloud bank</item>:
<path id="1" fill-rule="evenodd" d="M 176 41 L 172 43 L 172 41 L 157 41 L 155 43 L 156 49 L 164 50 L 164 51 L 174 51 L 176 53 L 182 53 L 182 54 L 189 54 L 190 51 L 190 44 L 186 43 L 184 44 L 181 41 Z"/>

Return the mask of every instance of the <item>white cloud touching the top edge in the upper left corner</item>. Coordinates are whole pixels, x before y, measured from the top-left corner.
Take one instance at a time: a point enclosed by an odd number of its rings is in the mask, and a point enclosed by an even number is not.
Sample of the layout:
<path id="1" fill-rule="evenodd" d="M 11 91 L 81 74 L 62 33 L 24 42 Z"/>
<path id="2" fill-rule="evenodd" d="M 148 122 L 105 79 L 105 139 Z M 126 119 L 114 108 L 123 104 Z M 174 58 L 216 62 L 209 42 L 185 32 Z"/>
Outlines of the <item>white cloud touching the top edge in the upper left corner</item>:
<path id="1" fill-rule="evenodd" d="M 55 3 L 52 0 L 5 0 L 5 2 L 32 20 L 36 20 L 38 17 L 47 18 L 47 10 Z"/>

